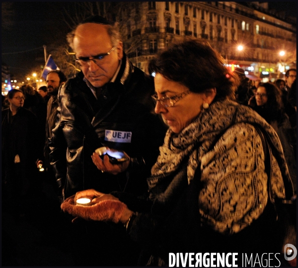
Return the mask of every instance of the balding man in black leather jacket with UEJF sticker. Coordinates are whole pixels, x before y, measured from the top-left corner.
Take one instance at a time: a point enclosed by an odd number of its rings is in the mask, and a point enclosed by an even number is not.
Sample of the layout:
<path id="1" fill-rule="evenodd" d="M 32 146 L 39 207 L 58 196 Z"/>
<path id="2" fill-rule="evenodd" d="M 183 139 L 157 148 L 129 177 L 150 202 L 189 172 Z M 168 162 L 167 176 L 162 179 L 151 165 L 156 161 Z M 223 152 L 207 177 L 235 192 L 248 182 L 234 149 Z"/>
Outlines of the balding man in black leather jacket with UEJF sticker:
<path id="1" fill-rule="evenodd" d="M 117 25 L 100 16 L 81 22 L 68 41 L 81 72 L 60 89 L 58 121 L 50 139 L 50 158 L 62 199 L 88 188 L 143 194 L 166 130 L 154 114 L 153 79 L 128 60 Z M 101 161 L 99 170 L 91 159 L 99 147 L 123 151 L 128 161 L 112 164 L 104 156 L 97 159 Z M 112 239 L 106 227 L 96 228 L 105 230 L 100 240 Z M 109 248 L 108 243 L 102 245 Z M 84 246 L 90 251 L 89 245 Z M 117 258 L 108 253 L 105 250 L 95 261 L 91 253 L 88 258 L 78 257 L 81 263 L 77 265 L 125 265 L 115 262 L 121 254 L 125 258 L 126 247 Z"/>

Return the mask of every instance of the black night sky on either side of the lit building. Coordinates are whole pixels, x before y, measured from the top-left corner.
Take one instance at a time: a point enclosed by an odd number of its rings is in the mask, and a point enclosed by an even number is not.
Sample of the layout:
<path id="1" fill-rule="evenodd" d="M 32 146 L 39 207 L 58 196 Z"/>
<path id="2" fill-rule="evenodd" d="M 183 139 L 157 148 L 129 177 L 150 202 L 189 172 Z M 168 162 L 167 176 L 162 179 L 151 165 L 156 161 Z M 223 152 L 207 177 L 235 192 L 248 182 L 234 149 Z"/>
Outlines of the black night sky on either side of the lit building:
<path id="1" fill-rule="evenodd" d="M 2 27 L 2 63 L 11 74 L 28 74 L 44 64 L 43 45 L 48 48 L 70 31 L 63 19 L 71 2 L 12 2 L 11 26 Z M 269 2 L 269 7 L 297 15 L 297 3 Z M 3 21 L 2 21 L 3 24 Z M 49 54 L 49 52 L 48 52 Z"/>

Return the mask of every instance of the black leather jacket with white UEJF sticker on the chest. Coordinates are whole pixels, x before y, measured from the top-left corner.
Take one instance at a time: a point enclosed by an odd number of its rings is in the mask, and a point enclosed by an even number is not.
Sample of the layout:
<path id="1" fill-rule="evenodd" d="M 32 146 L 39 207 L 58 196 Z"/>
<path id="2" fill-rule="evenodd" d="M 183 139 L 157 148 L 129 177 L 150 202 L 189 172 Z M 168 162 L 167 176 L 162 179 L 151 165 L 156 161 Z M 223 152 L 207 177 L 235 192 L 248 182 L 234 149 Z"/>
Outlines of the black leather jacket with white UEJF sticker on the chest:
<path id="1" fill-rule="evenodd" d="M 148 189 L 146 177 L 166 131 L 153 112 L 153 92 L 152 78 L 134 67 L 125 55 L 115 82 L 102 88 L 98 100 L 83 81 L 82 72 L 62 86 L 58 122 L 49 145 L 63 198 L 89 188 L 137 195 Z M 123 150 L 139 162 L 143 158 L 146 165 L 133 165 L 116 176 L 101 173 L 91 159 L 101 146 Z"/>

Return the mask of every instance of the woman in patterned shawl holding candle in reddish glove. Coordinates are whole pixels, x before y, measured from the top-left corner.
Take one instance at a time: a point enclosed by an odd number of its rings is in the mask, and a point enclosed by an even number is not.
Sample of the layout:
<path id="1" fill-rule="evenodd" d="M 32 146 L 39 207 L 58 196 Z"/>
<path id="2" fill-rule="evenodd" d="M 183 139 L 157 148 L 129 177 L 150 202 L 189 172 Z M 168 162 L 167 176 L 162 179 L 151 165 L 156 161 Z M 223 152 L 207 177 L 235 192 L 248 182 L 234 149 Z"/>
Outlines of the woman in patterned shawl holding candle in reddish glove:
<path id="1" fill-rule="evenodd" d="M 148 194 L 133 199 L 90 189 L 68 198 L 63 210 L 124 224 L 143 248 L 142 266 L 168 266 L 178 253 L 183 258 L 186 253 L 194 253 L 193 258 L 197 253 L 238 253 L 240 265 L 242 252 L 277 252 L 270 241 L 276 230 L 268 228 L 274 224 L 267 221 L 267 175 L 256 126 L 280 154 L 281 166 L 274 159 L 279 174 L 274 196 L 284 196 L 281 172 L 291 196 L 293 185 L 273 128 L 234 101 L 239 82 L 207 43 L 178 42 L 150 61 L 149 72 L 155 75 L 155 112 L 169 128 L 147 179 Z M 75 205 L 81 197 L 91 199 L 91 206 Z"/>

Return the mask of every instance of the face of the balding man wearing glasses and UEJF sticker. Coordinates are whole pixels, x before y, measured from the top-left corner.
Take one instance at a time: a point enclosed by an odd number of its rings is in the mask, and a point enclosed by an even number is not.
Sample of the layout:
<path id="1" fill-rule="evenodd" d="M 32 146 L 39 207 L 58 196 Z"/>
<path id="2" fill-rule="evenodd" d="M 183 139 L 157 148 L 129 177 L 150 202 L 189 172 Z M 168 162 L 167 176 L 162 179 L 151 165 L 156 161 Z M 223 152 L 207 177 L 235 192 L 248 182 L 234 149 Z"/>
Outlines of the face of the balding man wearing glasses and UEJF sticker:
<path id="1" fill-rule="evenodd" d="M 97 23 L 85 23 L 76 28 L 74 51 L 76 59 L 84 59 L 77 62 L 85 78 L 95 88 L 103 87 L 113 78 L 123 58 L 122 42 L 118 41 L 113 45 L 107 25 Z M 96 59 L 87 60 L 95 56 Z"/>

